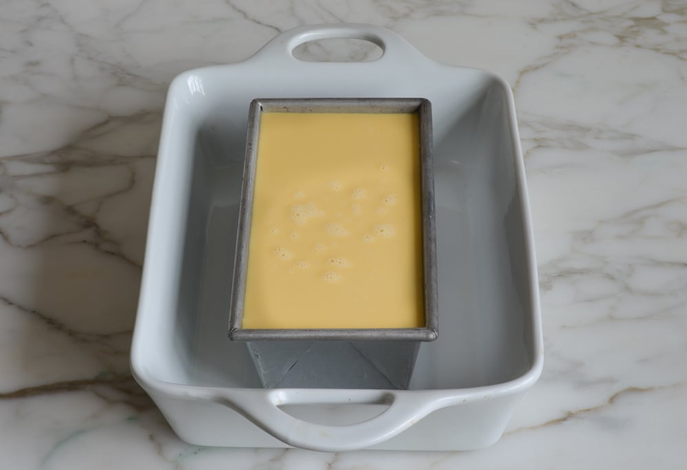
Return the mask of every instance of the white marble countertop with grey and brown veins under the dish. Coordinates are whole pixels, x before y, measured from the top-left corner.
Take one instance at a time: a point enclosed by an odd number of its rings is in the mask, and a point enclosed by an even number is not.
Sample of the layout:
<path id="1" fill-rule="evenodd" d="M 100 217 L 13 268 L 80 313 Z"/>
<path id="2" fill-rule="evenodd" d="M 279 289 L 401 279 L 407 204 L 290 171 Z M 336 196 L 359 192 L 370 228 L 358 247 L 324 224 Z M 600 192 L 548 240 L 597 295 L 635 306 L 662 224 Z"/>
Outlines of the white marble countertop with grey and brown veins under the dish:
<path id="1" fill-rule="evenodd" d="M 684 469 L 687 5 L 273 3 L 0 5 L 0 467 Z M 390 27 L 515 91 L 546 358 L 491 448 L 197 447 L 131 379 L 168 83 L 290 27 L 338 21 Z"/>

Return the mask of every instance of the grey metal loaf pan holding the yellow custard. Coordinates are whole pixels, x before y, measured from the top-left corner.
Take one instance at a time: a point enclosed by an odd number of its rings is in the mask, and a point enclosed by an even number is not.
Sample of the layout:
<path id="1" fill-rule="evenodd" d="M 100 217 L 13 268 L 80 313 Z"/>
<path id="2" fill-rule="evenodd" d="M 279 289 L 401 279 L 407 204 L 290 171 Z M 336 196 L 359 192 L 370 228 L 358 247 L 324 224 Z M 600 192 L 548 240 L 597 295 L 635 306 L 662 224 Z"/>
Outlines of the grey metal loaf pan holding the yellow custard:
<path id="1" fill-rule="evenodd" d="M 241 328 L 262 113 L 417 113 L 423 228 L 423 328 Z M 265 388 L 408 387 L 420 342 L 437 337 L 431 104 L 424 98 L 291 98 L 251 102 L 236 243 L 229 338 L 245 341 Z M 269 295 L 269 294 L 267 294 Z"/>

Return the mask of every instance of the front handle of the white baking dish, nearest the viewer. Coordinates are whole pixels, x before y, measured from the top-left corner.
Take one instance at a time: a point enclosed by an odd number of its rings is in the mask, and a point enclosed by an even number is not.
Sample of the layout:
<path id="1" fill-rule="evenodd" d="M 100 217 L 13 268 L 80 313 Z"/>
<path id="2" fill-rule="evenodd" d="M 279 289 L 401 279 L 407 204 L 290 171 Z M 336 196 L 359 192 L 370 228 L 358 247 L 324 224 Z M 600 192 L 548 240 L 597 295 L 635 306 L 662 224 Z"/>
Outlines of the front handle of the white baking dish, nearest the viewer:
<path id="1" fill-rule="evenodd" d="M 283 443 L 316 451 L 365 449 L 390 439 L 414 423 L 450 405 L 455 397 L 417 394 L 394 390 L 321 390 L 278 389 L 256 393 L 255 390 L 217 390 L 212 401 L 242 414 L 264 432 Z M 387 404 L 386 410 L 361 423 L 320 425 L 302 421 L 280 409 L 282 405 L 314 404 Z"/>

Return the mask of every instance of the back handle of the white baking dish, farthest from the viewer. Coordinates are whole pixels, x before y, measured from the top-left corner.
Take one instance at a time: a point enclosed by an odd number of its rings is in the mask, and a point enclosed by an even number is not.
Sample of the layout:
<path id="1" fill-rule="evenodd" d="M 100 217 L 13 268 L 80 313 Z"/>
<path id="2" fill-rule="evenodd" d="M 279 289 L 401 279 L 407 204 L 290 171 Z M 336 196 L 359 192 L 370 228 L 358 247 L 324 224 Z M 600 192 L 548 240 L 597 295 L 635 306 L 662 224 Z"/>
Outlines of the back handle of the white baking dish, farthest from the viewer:
<path id="1" fill-rule="evenodd" d="M 340 67 L 341 63 L 306 62 L 293 56 L 293 49 L 301 44 L 320 39 L 361 39 L 370 41 L 382 49 L 382 56 L 370 62 L 343 63 L 346 67 L 363 65 L 365 67 L 418 67 L 418 62 L 431 61 L 408 41 L 385 27 L 365 24 L 323 24 L 296 27 L 279 34 L 264 45 L 249 60 L 282 62 L 283 65 L 300 67 Z"/>

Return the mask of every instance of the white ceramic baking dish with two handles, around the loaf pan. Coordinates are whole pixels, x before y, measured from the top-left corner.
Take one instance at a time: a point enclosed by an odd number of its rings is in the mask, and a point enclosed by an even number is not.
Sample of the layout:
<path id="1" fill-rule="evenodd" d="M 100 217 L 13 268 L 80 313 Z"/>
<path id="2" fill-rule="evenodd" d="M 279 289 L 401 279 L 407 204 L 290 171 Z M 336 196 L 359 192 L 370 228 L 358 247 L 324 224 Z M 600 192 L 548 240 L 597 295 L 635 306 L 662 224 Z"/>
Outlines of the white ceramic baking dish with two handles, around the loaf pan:
<path id="1" fill-rule="evenodd" d="M 369 63 L 310 63 L 297 45 L 359 38 Z M 432 103 L 442 335 L 409 390 L 264 390 L 227 338 L 238 203 L 253 98 L 416 97 Z M 269 295 L 269 293 L 266 293 Z M 368 25 L 302 27 L 242 63 L 185 72 L 162 129 L 133 374 L 198 445 L 475 449 L 495 443 L 542 368 L 537 273 L 508 85 L 429 60 Z"/>

